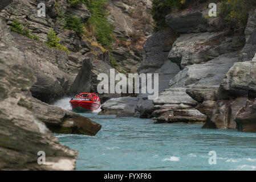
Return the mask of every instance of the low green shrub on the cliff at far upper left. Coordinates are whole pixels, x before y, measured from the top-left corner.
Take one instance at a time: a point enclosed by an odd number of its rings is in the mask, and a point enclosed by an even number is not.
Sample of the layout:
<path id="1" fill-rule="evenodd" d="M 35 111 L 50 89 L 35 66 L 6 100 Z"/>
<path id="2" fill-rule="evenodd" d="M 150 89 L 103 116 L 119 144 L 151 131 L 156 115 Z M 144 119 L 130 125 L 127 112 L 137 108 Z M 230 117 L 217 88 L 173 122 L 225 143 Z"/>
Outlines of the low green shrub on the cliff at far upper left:
<path id="1" fill-rule="evenodd" d="M 40 42 L 38 36 L 31 34 L 28 28 L 24 27 L 23 24 L 18 20 L 15 19 L 13 23 L 10 26 L 10 29 L 12 32 L 17 32 L 18 34 L 24 35 L 27 38 L 30 38 L 32 40 L 36 40 L 37 42 Z"/>

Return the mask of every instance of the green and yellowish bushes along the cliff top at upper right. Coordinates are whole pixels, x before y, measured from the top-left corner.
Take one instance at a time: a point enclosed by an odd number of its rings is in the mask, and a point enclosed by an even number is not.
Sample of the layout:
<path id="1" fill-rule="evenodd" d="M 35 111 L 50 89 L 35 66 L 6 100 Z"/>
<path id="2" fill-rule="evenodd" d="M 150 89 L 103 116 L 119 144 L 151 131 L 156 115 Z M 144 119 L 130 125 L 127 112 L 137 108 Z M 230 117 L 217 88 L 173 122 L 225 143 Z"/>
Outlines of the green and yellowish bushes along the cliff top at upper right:
<path id="1" fill-rule="evenodd" d="M 204 1 L 209 3 L 221 2 L 218 16 L 226 20 L 233 28 L 245 27 L 247 18 L 252 9 L 255 9 L 256 0 L 222 0 Z M 165 16 L 175 10 L 182 10 L 191 5 L 202 3 L 200 0 L 153 0 L 152 18 L 155 20 L 155 31 L 166 28 Z M 208 6 L 207 6 L 208 7 Z M 206 15 L 206 19 L 210 17 Z"/>

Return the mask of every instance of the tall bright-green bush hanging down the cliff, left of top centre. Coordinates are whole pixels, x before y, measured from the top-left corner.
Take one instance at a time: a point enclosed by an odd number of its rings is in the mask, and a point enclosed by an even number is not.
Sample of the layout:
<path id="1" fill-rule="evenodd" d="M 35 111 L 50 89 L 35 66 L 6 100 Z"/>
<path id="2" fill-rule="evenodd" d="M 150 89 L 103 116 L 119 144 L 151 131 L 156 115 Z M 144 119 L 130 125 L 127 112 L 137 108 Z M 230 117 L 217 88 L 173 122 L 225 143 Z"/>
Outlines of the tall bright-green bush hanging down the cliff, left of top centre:
<path id="1" fill-rule="evenodd" d="M 115 27 L 108 22 L 106 3 L 109 0 L 87 0 L 86 6 L 91 18 L 86 23 L 87 29 L 94 32 L 97 42 L 103 47 L 109 47 L 114 40 Z"/>

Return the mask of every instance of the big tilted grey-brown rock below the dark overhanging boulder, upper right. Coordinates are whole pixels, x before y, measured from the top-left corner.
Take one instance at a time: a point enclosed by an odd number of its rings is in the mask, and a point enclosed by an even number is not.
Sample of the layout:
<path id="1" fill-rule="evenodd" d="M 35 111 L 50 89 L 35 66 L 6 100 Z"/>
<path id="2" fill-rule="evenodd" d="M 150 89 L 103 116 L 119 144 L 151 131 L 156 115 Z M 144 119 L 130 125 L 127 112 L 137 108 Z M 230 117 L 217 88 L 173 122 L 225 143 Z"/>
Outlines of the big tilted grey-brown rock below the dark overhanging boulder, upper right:
<path id="1" fill-rule="evenodd" d="M 174 42 L 168 58 L 184 68 L 237 51 L 242 48 L 243 40 L 242 36 L 225 36 L 224 32 L 181 34 Z"/>

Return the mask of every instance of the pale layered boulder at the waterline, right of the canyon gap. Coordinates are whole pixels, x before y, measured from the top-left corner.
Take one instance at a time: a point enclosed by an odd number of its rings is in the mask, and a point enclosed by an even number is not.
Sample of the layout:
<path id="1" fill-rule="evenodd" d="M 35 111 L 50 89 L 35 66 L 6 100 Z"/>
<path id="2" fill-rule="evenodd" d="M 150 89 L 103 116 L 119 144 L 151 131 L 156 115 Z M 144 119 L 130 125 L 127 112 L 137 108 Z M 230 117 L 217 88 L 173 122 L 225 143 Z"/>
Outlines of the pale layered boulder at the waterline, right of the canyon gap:
<path id="1" fill-rule="evenodd" d="M 154 110 L 152 117 L 155 123 L 205 123 L 206 115 L 194 107 L 194 101 L 186 94 L 185 88 L 165 89 L 153 101 Z"/>

